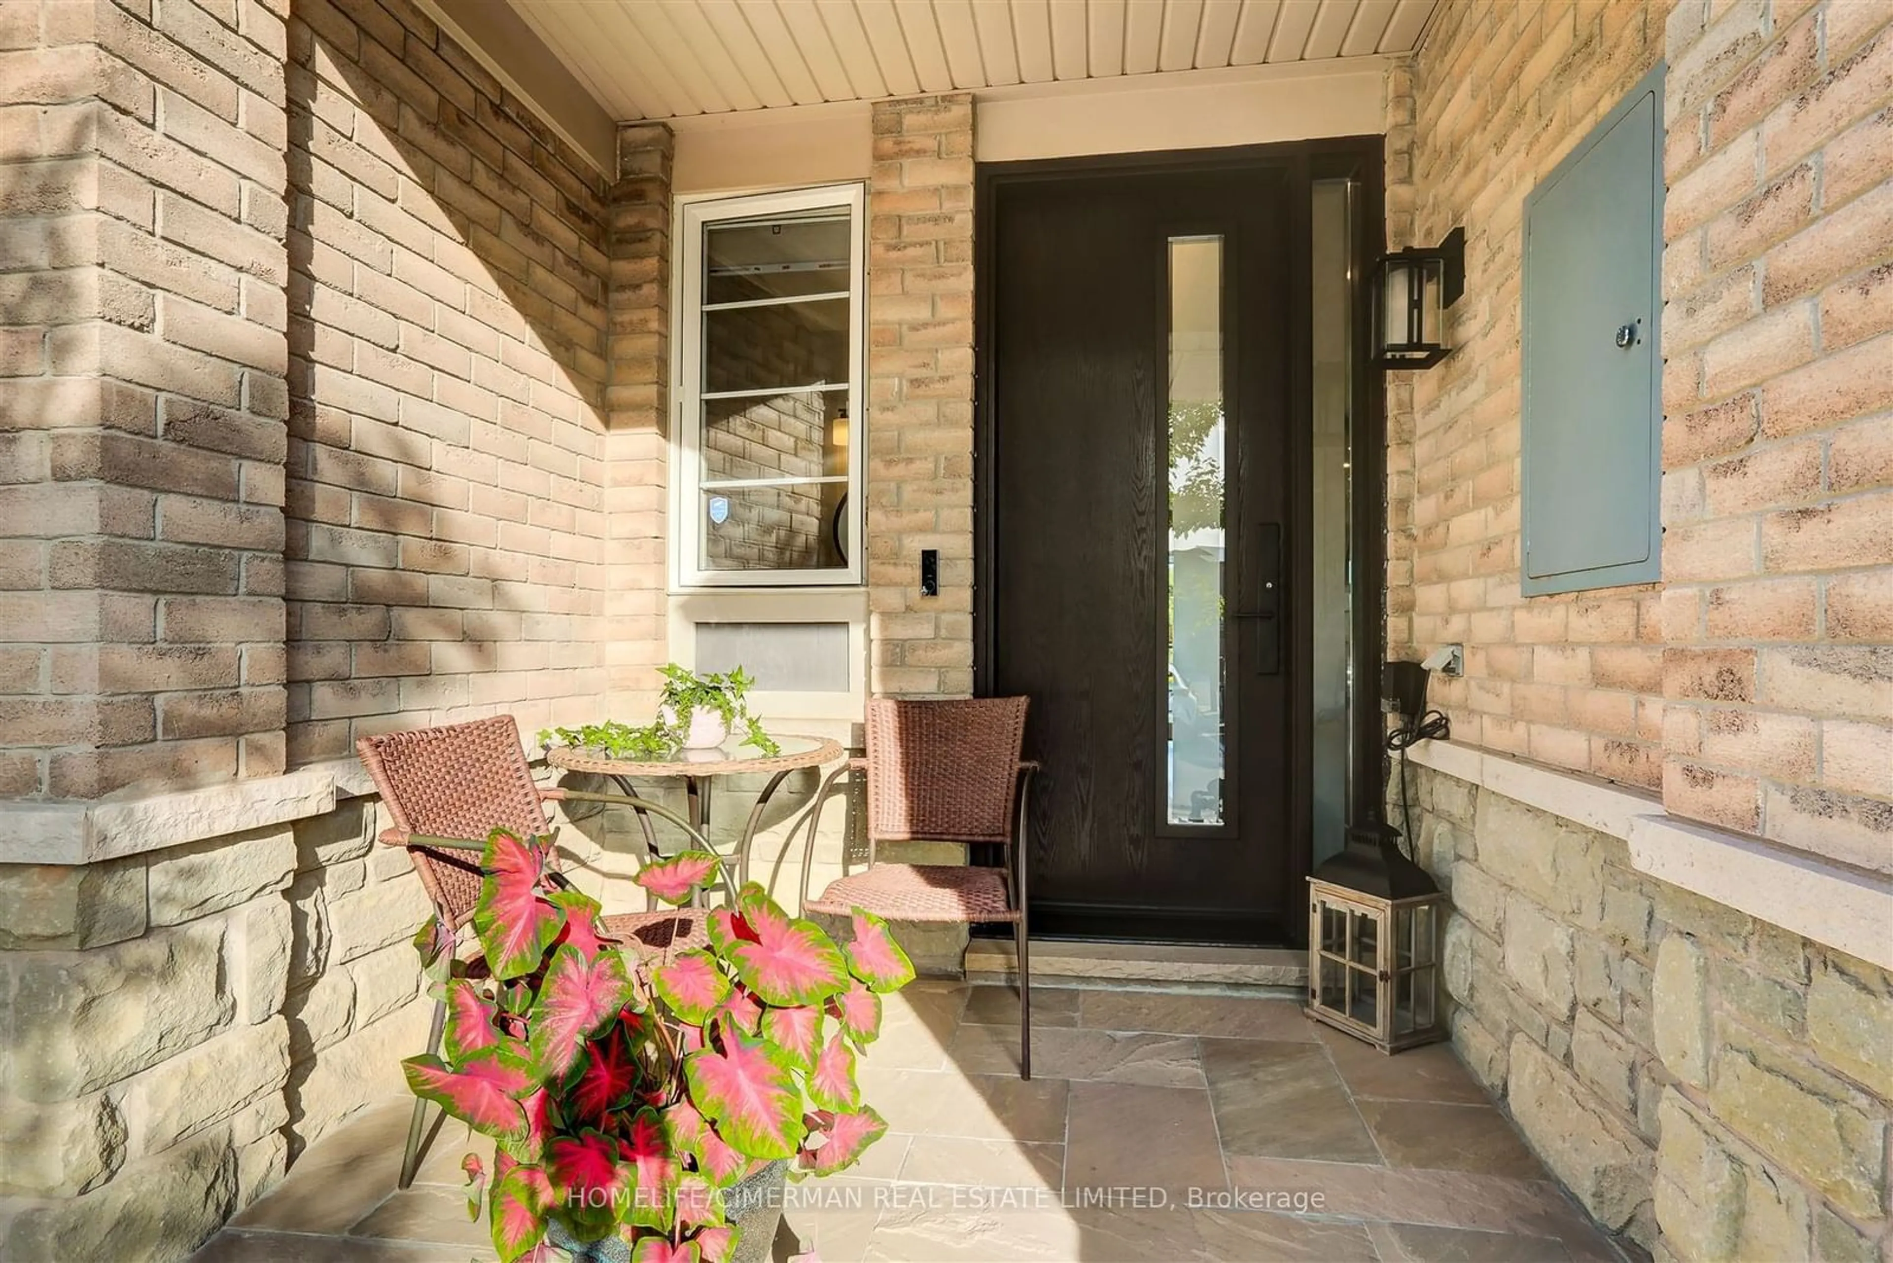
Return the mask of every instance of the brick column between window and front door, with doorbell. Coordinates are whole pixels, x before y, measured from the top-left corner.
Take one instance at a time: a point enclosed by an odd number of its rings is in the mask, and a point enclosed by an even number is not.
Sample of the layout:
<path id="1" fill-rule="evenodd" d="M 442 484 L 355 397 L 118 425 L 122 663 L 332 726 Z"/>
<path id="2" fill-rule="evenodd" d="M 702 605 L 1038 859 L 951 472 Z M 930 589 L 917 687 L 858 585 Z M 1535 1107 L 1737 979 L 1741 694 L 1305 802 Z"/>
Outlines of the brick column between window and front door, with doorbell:
<path id="1" fill-rule="evenodd" d="M 876 695 L 973 691 L 973 98 L 875 104 L 867 583 Z M 941 593 L 920 595 L 939 549 Z"/>

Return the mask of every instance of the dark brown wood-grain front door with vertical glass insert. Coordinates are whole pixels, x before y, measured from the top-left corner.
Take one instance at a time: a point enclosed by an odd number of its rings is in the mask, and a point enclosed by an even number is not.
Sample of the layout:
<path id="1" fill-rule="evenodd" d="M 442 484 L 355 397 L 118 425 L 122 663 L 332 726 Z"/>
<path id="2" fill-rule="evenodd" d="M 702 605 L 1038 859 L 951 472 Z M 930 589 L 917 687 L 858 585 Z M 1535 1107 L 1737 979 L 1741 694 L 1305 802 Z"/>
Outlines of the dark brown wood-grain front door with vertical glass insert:
<path id="1" fill-rule="evenodd" d="M 1249 163 L 988 189 L 982 682 L 1032 697 L 1035 934 L 1295 939 L 1291 180 Z"/>

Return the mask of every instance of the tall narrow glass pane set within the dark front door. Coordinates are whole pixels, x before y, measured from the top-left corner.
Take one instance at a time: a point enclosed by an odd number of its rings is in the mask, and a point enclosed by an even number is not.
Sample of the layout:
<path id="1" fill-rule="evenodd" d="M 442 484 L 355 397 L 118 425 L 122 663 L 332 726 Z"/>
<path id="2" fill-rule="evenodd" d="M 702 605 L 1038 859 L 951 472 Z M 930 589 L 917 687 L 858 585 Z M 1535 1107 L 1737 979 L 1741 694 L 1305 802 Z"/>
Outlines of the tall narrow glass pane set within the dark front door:
<path id="1" fill-rule="evenodd" d="M 1223 239 L 1170 239 L 1166 398 L 1168 786 L 1164 824 L 1223 824 Z"/>

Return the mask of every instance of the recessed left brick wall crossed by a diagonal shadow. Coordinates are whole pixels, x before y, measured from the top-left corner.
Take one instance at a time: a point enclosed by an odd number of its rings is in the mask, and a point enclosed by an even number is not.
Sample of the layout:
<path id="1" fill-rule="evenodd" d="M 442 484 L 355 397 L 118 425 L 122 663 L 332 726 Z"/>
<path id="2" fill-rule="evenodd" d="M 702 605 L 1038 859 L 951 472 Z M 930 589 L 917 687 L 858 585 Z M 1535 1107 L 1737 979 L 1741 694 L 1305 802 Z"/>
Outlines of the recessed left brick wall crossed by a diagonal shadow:
<path id="1" fill-rule="evenodd" d="M 591 718 L 608 182 L 401 0 L 288 51 L 290 757 Z"/>

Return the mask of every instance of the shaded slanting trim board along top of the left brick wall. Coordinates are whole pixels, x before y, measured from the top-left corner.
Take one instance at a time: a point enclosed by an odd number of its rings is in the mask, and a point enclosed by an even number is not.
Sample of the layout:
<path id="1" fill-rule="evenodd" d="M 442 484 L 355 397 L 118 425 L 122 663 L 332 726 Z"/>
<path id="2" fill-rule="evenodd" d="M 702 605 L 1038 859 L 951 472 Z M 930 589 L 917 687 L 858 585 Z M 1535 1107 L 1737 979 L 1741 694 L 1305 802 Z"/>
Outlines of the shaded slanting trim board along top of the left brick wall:
<path id="1" fill-rule="evenodd" d="M 415 4 L 600 174 L 617 178 L 617 123 L 505 0 Z"/>

